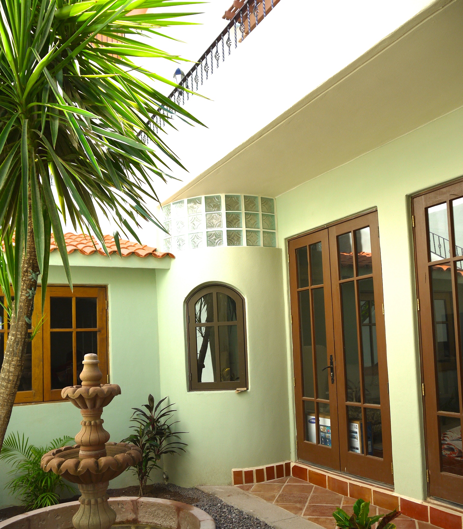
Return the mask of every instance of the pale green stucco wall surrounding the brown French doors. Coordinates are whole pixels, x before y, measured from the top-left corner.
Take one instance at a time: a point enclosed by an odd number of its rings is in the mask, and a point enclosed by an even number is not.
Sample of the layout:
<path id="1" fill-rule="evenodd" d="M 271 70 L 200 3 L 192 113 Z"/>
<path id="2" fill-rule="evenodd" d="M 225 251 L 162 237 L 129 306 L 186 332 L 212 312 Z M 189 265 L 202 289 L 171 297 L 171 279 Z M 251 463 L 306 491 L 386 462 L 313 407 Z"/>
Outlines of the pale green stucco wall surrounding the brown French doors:
<path id="1" fill-rule="evenodd" d="M 395 490 L 419 499 L 425 497 L 426 487 L 409 195 L 462 174 L 460 108 L 276 200 L 282 248 L 293 235 L 368 208 L 378 209 Z M 284 251 L 284 287 L 288 291 L 286 256 Z M 291 351 L 287 296 L 285 302 Z M 294 400 L 292 391 L 290 398 Z M 293 432 L 294 409 L 291 422 Z M 292 444 L 294 457 L 294 435 Z"/>

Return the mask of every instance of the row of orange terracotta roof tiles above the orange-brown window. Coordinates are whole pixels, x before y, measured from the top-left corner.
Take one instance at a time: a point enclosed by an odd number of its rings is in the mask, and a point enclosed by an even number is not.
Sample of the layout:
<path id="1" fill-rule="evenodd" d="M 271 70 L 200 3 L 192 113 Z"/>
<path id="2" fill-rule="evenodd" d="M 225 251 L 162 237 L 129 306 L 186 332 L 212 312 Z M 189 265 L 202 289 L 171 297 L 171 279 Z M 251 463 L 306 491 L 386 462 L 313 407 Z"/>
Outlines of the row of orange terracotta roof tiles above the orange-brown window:
<path id="1" fill-rule="evenodd" d="M 113 235 L 105 235 L 104 239 L 108 253 L 117 254 L 116 243 L 114 241 Z M 90 236 L 85 233 L 64 233 L 64 241 L 66 242 L 66 249 L 68 250 L 68 253 L 72 253 L 73 251 L 77 250 L 84 256 L 89 256 L 95 252 L 98 252 L 102 256 L 106 255 L 103 248 L 101 248 L 100 243 L 94 236 Z M 156 248 L 147 246 L 146 244 L 138 244 L 137 242 L 127 241 L 125 239 L 119 239 L 119 243 L 121 244 L 122 257 L 131 256 L 132 253 L 134 253 L 137 257 L 153 256 L 156 258 L 161 258 L 168 256 L 172 259 L 175 259 L 173 253 L 158 252 L 156 251 Z M 58 250 L 58 246 L 55 243 L 52 234 L 50 240 L 50 251 L 52 252 L 53 250 Z"/>

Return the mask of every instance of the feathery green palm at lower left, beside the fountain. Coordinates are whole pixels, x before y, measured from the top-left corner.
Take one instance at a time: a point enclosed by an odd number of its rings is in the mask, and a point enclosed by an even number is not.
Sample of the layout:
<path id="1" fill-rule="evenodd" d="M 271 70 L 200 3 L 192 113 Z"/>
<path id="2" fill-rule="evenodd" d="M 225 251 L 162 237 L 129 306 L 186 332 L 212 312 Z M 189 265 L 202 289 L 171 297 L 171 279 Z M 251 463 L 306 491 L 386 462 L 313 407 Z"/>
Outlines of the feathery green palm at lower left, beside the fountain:
<path id="1" fill-rule="evenodd" d="M 24 434 L 11 433 L 3 443 L 0 451 L 0 460 L 11 463 L 13 468 L 8 473 L 13 478 L 7 482 L 5 489 L 18 495 L 21 503 L 27 510 L 40 509 L 59 503 L 59 492 L 62 490 L 75 490 L 53 472 L 44 472 L 40 468 L 42 455 L 49 450 L 60 448 L 74 441 L 65 435 L 53 439 L 48 446 L 35 446 L 29 444 L 29 438 L 24 439 Z"/>

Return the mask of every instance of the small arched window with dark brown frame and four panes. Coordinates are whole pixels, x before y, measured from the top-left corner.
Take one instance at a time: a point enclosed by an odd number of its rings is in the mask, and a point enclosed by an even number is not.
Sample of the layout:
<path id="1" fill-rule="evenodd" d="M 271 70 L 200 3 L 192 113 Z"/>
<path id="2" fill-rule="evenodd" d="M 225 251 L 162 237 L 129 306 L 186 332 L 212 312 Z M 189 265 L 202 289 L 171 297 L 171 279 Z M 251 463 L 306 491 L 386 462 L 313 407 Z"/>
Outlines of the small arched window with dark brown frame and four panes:
<path id="1" fill-rule="evenodd" d="M 209 285 L 187 302 L 191 390 L 247 388 L 245 303 L 233 289 Z"/>

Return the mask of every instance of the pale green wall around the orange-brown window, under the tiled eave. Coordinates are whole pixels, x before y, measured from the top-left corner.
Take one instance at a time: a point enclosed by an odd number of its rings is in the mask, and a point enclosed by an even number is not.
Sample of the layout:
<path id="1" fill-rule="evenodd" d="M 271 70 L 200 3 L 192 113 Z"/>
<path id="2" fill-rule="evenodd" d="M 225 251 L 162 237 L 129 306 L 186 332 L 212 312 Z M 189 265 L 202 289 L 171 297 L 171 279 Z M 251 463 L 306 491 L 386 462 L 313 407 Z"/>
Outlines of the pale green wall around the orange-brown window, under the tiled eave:
<path id="1" fill-rule="evenodd" d="M 129 433 L 131 408 L 147 402 L 151 392 L 160 398 L 158 314 L 155 270 L 72 267 L 73 284 L 108 286 L 108 350 L 111 382 L 122 395 L 105 408 L 103 419 L 112 441 Z M 50 267 L 49 284 L 67 284 L 64 270 Z M 14 406 L 8 432 L 24 432 L 34 444 L 47 444 L 54 437 L 76 435 L 81 416 L 71 403 Z M 8 467 L 0 463 L 0 508 L 17 503 L 4 484 Z M 112 487 L 135 484 L 129 472 L 111 482 Z"/>

